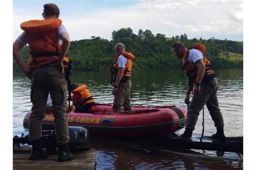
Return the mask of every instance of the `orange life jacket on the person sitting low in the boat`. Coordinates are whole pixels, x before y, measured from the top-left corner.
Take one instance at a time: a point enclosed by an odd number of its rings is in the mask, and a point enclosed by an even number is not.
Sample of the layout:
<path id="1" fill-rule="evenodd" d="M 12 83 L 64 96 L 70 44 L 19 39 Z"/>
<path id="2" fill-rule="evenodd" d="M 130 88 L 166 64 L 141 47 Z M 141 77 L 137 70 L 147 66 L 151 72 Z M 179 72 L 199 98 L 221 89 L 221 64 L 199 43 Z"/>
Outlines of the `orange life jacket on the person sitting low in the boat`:
<path id="1" fill-rule="evenodd" d="M 78 88 L 73 90 L 73 93 L 80 93 L 81 94 L 81 98 L 78 99 L 77 101 L 77 107 L 92 107 L 95 106 L 95 100 L 93 99 L 91 93 L 89 92 L 89 90 L 86 88 L 86 85 L 83 84 L 81 86 L 79 86 Z"/>

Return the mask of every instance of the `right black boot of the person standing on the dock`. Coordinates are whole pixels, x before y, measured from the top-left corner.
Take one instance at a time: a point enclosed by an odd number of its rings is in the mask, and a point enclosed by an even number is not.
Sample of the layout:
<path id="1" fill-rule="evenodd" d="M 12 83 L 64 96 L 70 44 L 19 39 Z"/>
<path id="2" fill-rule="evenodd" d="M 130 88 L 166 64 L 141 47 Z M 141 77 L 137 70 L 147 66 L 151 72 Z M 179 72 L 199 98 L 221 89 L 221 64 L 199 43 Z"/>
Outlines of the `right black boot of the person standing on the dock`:
<path id="1" fill-rule="evenodd" d="M 60 151 L 59 157 L 58 157 L 59 162 L 66 162 L 66 161 L 76 159 L 76 156 L 72 154 L 69 150 L 69 142 L 65 143 L 64 145 L 60 145 L 59 151 Z"/>

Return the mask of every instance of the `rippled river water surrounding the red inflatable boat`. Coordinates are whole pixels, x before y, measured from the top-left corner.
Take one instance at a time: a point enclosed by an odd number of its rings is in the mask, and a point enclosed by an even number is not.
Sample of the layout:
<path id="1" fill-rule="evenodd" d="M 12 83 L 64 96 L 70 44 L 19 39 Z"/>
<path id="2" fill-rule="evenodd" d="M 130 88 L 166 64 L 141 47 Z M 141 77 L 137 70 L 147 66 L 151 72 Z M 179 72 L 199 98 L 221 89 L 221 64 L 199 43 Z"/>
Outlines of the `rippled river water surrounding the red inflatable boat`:
<path id="1" fill-rule="evenodd" d="M 226 136 L 243 136 L 243 69 L 215 69 L 219 81 L 218 99 L 223 114 Z M 131 104 L 144 106 L 175 105 L 187 109 L 184 99 L 187 78 L 182 70 L 139 70 L 132 71 Z M 73 72 L 71 82 L 86 84 L 97 103 L 111 103 L 114 96 L 110 85 L 110 71 Z M 22 73 L 13 74 L 13 136 L 28 134 L 23 127 L 23 118 L 31 110 L 30 80 Z M 202 111 L 193 132 L 194 139 L 202 134 Z M 204 107 L 204 135 L 216 132 L 207 107 Z M 179 130 L 182 134 L 185 129 Z M 216 152 L 195 149 L 178 149 L 167 146 L 150 146 L 151 152 L 145 153 L 132 149 L 141 146 L 136 140 L 109 138 L 90 139 L 91 148 L 96 148 L 96 170 L 101 169 L 230 169 L 228 162 L 196 159 L 180 156 L 173 152 L 204 154 L 239 158 L 233 152 Z M 148 147 L 148 146 L 147 146 Z M 160 150 L 161 149 L 161 150 Z M 171 151 L 171 152 L 170 152 Z M 235 168 L 243 168 L 233 162 Z"/>

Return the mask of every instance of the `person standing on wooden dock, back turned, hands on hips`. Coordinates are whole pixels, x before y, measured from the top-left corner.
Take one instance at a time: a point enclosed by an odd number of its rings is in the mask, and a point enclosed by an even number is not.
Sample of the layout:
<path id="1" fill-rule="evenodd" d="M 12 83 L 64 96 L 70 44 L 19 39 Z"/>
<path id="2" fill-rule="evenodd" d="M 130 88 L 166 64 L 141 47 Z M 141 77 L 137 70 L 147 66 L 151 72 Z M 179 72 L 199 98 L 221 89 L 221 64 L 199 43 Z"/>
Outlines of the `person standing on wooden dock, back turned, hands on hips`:
<path id="1" fill-rule="evenodd" d="M 41 148 L 42 122 L 49 92 L 52 94 L 53 116 L 59 145 L 59 162 L 76 159 L 69 150 L 69 129 L 66 113 L 67 80 L 64 76 L 69 60 L 67 52 L 70 39 L 67 29 L 59 19 L 60 10 L 55 4 L 44 4 L 44 20 L 30 20 L 20 24 L 24 31 L 13 43 L 13 58 L 31 80 L 31 115 L 29 140 L 32 152 L 29 160 L 46 159 L 48 153 Z M 28 67 L 19 50 L 29 45 Z"/>

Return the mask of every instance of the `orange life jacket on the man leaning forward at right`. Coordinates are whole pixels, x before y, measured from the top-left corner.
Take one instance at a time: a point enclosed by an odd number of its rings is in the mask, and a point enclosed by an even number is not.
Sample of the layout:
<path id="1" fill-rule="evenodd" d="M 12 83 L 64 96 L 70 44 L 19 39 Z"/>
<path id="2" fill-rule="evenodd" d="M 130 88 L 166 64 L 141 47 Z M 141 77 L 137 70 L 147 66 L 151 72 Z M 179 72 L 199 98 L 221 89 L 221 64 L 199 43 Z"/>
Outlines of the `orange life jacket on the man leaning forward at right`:
<path id="1" fill-rule="evenodd" d="M 186 50 L 184 56 L 183 56 L 183 67 L 182 68 L 185 70 L 186 75 L 188 76 L 189 84 L 192 83 L 192 82 L 196 83 L 197 69 L 198 69 L 198 67 L 196 66 L 195 63 L 188 62 L 188 54 L 189 54 L 190 49 L 198 49 L 203 53 L 203 55 L 204 55 L 203 61 L 204 61 L 204 64 L 205 64 L 205 72 L 206 73 L 213 73 L 214 72 L 210 68 L 210 61 L 205 57 L 205 46 L 203 44 L 196 43 L 196 44 L 193 45 L 193 47 L 188 48 Z"/>

